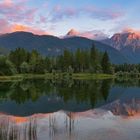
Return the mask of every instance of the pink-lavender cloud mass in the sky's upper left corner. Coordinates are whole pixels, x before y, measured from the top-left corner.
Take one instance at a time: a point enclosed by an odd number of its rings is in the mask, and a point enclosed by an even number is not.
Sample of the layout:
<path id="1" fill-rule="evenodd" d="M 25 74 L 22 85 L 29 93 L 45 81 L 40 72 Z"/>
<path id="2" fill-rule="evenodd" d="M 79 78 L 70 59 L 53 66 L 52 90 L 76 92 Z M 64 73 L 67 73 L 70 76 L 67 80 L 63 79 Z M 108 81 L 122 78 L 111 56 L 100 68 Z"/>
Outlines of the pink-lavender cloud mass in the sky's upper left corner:
<path id="1" fill-rule="evenodd" d="M 0 2 L 0 16 L 6 17 L 9 22 L 33 22 L 37 13 L 36 8 L 29 8 L 25 1 L 13 2 L 5 0 Z"/>

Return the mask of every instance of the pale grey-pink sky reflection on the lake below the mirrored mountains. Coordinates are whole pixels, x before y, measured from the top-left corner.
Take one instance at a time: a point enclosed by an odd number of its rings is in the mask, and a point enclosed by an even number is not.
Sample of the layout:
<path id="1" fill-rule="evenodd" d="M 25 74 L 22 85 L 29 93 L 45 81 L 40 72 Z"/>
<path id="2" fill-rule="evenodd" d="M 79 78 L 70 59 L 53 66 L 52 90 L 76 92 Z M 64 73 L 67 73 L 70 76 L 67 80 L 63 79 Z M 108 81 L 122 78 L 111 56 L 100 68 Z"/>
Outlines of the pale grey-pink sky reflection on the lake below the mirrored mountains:
<path id="1" fill-rule="evenodd" d="M 94 109 L 85 112 L 59 111 L 29 117 L 0 115 L 1 140 L 138 140 L 139 122 L 124 121 L 110 111 Z M 131 125 L 131 133 L 127 126 Z M 115 126 L 115 128 L 114 128 Z M 121 129 L 121 127 L 123 127 Z M 129 126 L 130 127 L 130 126 Z M 88 132 L 88 133 L 87 133 Z M 132 135 L 134 133 L 134 135 Z M 130 135 L 129 135 L 130 134 Z"/>

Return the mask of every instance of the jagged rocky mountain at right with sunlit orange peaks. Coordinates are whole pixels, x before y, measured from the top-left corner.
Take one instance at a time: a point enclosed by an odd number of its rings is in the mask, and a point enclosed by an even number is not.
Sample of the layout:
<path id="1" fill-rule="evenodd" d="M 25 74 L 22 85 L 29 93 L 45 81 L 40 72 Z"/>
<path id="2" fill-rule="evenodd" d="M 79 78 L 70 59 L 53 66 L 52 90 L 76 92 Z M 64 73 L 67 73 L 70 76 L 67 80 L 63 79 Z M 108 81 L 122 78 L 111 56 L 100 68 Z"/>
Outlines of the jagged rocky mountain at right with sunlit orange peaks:
<path id="1" fill-rule="evenodd" d="M 129 63 L 140 63 L 140 34 L 117 33 L 102 42 L 119 50 L 129 60 Z"/>

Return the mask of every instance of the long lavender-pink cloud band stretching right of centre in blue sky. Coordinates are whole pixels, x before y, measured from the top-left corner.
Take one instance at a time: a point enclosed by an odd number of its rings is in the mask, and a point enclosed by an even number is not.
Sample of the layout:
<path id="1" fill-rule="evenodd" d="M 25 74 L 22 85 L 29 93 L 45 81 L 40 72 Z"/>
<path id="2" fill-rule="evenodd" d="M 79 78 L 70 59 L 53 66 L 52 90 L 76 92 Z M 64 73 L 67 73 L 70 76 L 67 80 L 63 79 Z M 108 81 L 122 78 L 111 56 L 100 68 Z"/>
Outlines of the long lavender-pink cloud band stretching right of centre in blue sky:
<path id="1" fill-rule="evenodd" d="M 100 20 L 114 20 L 124 16 L 121 9 L 103 9 L 95 6 L 85 6 L 81 8 L 62 7 L 57 5 L 52 12 L 52 21 L 61 21 L 65 18 L 73 18 L 79 15 L 86 15 Z"/>

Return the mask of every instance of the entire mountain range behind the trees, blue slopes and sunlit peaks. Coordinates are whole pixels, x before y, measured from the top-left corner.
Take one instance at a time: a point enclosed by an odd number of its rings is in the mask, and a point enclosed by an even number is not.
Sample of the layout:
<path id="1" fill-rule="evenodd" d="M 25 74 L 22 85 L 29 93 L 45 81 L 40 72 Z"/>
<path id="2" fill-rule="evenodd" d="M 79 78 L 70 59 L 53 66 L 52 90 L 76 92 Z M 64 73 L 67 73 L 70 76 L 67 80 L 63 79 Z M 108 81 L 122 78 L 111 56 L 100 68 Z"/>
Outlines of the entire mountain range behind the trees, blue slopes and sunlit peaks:
<path id="1" fill-rule="evenodd" d="M 22 31 L 13 32 L 0 35 L 0 54 L 22 47 L 29 51 L 36 49 L 45 56 L 56 56 L 64 49 L 71 51 L 77 48 L 89 49 L 93 43 L 99 51 L 108 52 L 112 63 L 140 63 L 140 35 L 132 32 L 117 33 L 103 40 L 79 36 L 74 30 L 69 31 L 63 38 Z"/>

